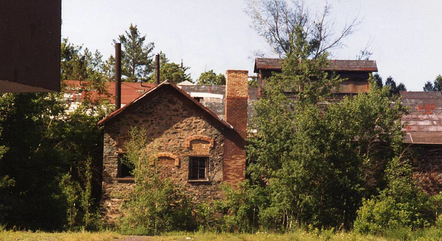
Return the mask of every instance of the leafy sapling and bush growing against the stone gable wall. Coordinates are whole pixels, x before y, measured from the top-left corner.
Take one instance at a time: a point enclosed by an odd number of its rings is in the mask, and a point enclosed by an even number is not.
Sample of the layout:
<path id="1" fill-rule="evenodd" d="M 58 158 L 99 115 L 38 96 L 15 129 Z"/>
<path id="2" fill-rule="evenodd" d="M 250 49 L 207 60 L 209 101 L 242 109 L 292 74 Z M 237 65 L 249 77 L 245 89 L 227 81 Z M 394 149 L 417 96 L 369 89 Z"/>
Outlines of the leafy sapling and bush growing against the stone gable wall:
<path id="1" fill-rule="evenodd" d="M 147 144 L 146 131 L 133 128 L 126 146 L 126 160 L 135 166 L 135 187 L 123 205 L 120 231 L 157 235 L 165 231 L 195 229 L 190 198 L 182 187 L 160 177 L 155 153 L 145 151 Z"/>

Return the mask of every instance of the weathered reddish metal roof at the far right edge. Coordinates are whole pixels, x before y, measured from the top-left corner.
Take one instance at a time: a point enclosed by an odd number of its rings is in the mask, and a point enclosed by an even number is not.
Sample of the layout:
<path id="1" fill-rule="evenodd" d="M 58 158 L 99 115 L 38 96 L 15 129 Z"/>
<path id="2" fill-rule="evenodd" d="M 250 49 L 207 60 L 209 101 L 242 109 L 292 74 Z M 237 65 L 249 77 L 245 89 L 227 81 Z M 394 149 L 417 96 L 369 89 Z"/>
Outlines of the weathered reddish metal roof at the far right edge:
<path id="1" fill-rule="evenodd" d="M 403 92 L 401 97 L 410 112 L 402 117 L 405 143 L 442 144 L 441 92 Z"/>

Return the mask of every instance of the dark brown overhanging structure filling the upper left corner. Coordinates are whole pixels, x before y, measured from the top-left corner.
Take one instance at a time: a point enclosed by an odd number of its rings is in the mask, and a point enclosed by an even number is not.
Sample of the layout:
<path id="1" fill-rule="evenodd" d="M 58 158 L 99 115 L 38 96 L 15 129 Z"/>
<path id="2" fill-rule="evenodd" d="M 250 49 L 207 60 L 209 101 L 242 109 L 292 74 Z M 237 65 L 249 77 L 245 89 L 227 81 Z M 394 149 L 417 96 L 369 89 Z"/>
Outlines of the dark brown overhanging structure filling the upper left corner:
<path id="1" fill-rule="evenodd" d="M 61 0 L 2 1 L 0 92 L 60 90 Z"/>

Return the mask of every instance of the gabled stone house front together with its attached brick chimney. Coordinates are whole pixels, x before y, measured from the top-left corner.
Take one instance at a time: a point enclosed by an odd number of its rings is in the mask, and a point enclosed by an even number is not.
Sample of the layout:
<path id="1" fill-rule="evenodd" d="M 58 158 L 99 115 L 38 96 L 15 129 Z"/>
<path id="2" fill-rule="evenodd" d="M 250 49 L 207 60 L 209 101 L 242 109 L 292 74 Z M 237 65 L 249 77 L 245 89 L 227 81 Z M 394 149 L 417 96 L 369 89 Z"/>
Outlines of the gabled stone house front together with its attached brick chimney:
<path id="1" fill-rule="evenodd" d="M 227 70 L 225 120 L 198 97 L 167 81 L 102 119 L 102 209 L 106 218 L 112 221 L 119 215 L 122 195 L 133 188 L 133 177 L 121 162 L 133 126 L 147 130 L 151 142 L 146 150 L 156 153 L 160 174 L 182 184 L 195 200 L 218 198 L 222 182 L 244 180 L 247 80 L 248 71 Z"/>

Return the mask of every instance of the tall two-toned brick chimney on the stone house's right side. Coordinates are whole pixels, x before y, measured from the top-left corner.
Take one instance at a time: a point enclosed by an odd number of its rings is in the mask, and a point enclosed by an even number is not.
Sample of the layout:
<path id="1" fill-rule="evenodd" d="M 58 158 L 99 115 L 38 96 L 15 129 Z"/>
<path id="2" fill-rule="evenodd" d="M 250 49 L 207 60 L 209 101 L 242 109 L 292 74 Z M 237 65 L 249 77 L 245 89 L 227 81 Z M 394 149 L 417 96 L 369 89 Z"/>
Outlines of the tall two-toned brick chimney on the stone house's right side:
<path id="1" fill-rule="evenodd" d="M 247 70 L 226 71 L 225 120 L 234 128 L 224 142 L 223 180 L 236 186 L 245 179 L 247 133 Z"/>

